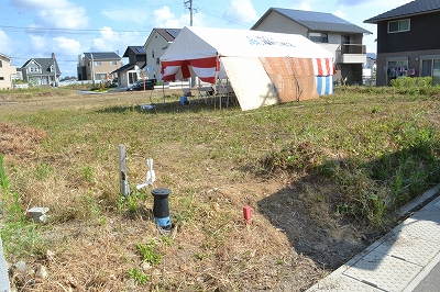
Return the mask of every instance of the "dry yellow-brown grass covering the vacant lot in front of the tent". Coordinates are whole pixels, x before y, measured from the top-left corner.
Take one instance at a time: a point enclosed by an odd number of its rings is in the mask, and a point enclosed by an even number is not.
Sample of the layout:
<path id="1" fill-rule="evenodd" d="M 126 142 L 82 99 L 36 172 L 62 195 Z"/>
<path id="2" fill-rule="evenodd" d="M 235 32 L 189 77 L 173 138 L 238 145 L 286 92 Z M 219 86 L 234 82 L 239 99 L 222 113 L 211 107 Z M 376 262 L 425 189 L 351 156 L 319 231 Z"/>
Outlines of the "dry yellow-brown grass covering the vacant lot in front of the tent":
<path id="1" fill-rule="evenodd" d="M 179 93 L 167 91 L 174 103 L 161 105 L 162 92 L 154 92 L 158 110 L 151 112 L 139 110 L 150 92 L 72 91 L 0 105 L 8 111 L 0 114 L 0 147 L 13 190 L 24 210 L 51 209 L 48 223 L 36 228 L 40 249 L 20 254 L 32 268 L 44 265 L 48 277 L 14 271 L 20 291 L 304 291 L 362 250 L 362 237 L 377 236 L 336 215 L 339 194 L 331 181 L 307 171 L 250 171 L 286 145 L 277 139 L 292 135 L 276 135 L 277 125 L 258 127 L 249 121 L 254 113 L 239 109 L 182 106 Z M 231 126 L 231 116 L 243 128 Z M 133 210 L 121 202 L 119 144 L 128 147 L 132 190 L 144 179 L 146 158 L 155 161 L 154 187 L 172 189 L 170 237 L 157 232 L 150 189 L 138 194 Z M 297 148 L 302 164 L 318 162 L 310 144 Z M 244 205 L 252 207 L 250 226 Z M 145 267 L 136 245 L 151 240 L 162 261 Z M 8 255 L 11 263 L 19 259 Z M 134 268 L 150 277 L 145 284 L 130 279 Z"/>

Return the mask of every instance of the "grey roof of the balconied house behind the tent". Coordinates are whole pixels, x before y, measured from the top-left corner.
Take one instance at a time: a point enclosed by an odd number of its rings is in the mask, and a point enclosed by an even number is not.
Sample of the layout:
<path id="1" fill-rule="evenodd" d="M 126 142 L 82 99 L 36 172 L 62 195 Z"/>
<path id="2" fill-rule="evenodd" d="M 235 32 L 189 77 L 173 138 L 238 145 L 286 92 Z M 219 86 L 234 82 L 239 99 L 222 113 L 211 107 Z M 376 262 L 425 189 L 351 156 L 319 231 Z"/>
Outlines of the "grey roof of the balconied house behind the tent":
<path id="1" fill-rule="evenodd" d="M 301 24 L 302 26 L 306 26 L 311 31 L 366 34 L 372 33 L 331 13 L 284 8 L 270 8 L 267 12 L 251 27 L 251 30 L 254 30 L 256 26 L 258 26 L 260 23 L 262 23 L 264 19 L 273 11 Z"/>

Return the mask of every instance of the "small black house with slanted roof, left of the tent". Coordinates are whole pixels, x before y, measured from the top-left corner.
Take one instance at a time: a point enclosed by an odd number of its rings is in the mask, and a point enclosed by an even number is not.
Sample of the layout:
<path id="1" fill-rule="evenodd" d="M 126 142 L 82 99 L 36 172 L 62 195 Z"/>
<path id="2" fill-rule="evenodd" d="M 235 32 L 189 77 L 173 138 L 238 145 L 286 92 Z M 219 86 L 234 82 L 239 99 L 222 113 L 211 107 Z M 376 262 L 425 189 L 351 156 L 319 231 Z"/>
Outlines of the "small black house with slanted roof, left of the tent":
<path id="1" fill-rule="evenodd" d="M 129 58 L 129 64 L 112 71 L 118 75 L 118 86 L 129 87 L 136 80 L 144 77 L 146 66 L 146 53 L 143 46 L 129 46 L 123 54 L 124 58 Z M 146 70 L 147 71 L 147 70 Z M 146 77 L 146 76 L 145 76 Z"/>

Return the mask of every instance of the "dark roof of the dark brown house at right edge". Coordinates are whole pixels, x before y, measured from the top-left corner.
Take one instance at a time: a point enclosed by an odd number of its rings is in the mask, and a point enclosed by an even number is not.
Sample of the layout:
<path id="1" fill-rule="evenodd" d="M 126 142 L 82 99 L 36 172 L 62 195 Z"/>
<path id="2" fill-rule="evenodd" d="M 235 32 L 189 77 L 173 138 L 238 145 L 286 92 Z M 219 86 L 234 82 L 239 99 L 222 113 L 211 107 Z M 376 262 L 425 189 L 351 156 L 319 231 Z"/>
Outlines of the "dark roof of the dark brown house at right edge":
<path id="1" fill-rule="evenodd" d="M 411 14 L 428 13 L 440 10 L 440 0 L 416 0 L 405 5 L 395 8 L 374 18 L 367 19 L 365 23 L 377 23 L 382 20 L 396 19 Z"/>

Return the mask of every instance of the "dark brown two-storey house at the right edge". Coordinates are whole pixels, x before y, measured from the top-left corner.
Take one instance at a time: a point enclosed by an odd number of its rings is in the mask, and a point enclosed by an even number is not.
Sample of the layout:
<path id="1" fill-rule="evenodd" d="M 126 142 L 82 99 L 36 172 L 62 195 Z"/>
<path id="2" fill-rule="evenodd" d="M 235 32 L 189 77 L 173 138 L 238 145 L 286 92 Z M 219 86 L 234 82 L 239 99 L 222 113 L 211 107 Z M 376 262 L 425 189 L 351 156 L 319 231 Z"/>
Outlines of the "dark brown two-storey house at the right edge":
<path id="1" fill-rule="evenodd" d="M 377 24 L 377 86 L 405 76 L 440 85 L 440 0 L 415 0 L 364 22 Z"/>

